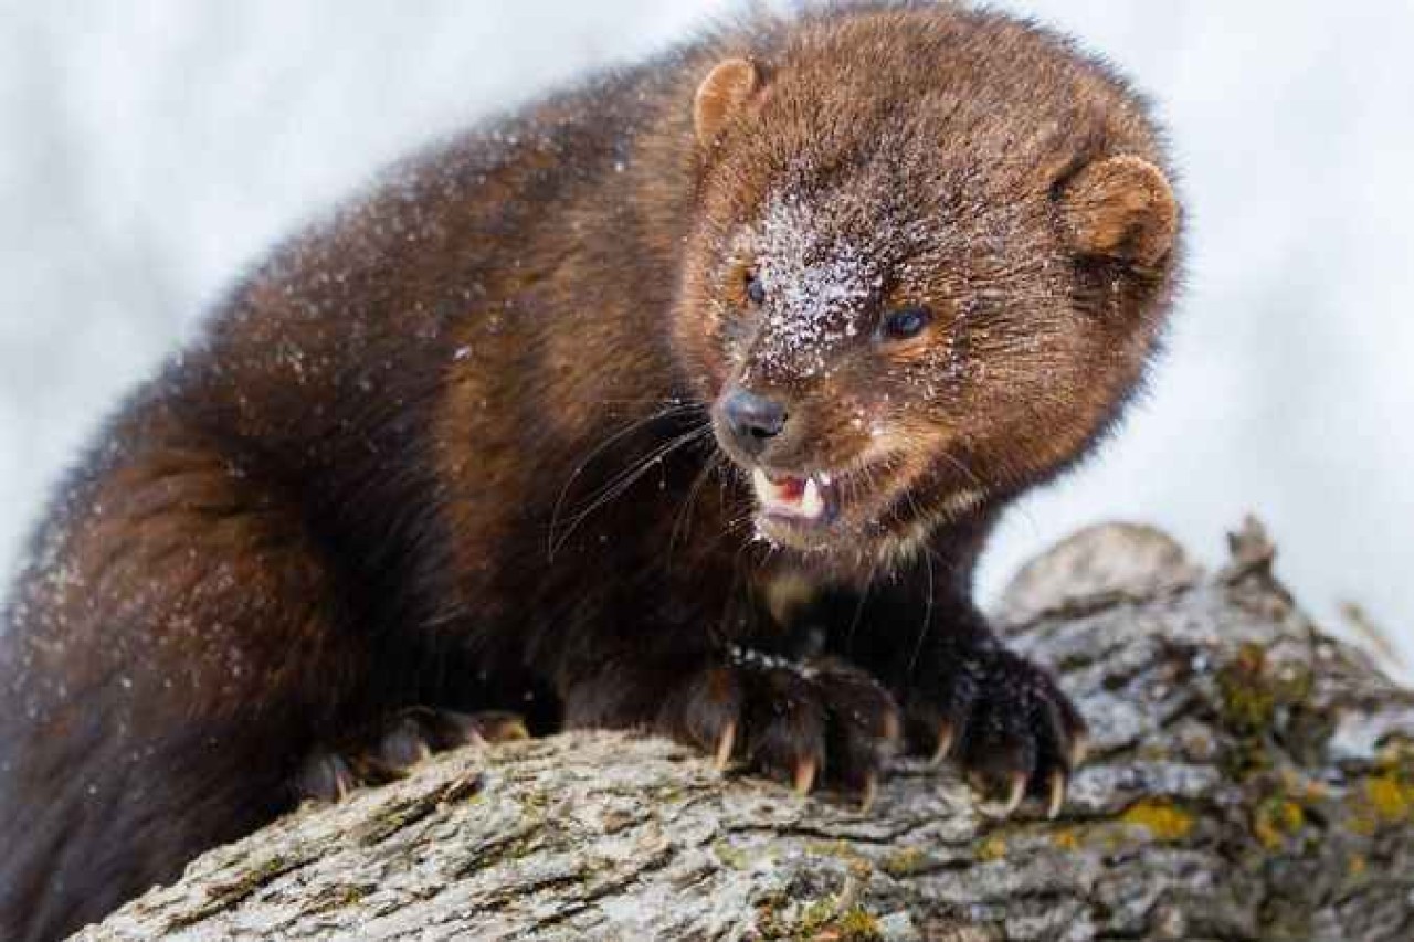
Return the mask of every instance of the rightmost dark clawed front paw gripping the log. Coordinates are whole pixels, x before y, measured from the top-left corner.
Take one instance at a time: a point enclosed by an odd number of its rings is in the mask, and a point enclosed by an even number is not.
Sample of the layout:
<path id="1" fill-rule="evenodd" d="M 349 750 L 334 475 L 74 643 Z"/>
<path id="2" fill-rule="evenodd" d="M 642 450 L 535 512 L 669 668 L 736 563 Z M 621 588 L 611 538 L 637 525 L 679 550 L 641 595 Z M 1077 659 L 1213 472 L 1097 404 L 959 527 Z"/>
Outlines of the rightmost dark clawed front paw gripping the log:
<path id="1" fill-rule="evenodd" d="M 936 672 L 911 690 L 905 716 L 912 751 L 956 761 L 1008 815 L 1031 796 L 1055 818 L 1085 758 L 1080 713 L 1049 673 L 1005 649 Z"/>

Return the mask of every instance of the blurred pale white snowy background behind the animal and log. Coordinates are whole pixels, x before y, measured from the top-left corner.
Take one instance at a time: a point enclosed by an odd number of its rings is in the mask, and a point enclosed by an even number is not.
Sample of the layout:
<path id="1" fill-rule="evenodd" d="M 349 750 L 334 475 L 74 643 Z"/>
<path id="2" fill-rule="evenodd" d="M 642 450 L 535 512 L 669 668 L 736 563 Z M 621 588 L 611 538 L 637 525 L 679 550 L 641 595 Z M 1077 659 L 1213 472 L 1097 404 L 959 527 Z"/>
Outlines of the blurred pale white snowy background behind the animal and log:
<path id="1" fill-rule="evenodd" d="M 1104 455 L 1014 511 L 994 594 L 1100 519 L 1278 571 L 1414 656 L 1414 4 L 1034 0 L 1158 102 L 1189 208 L 1167 362 Z M 281 235 L 403 151 L 718 0 L 0 0 L 0 570 L 102 416 Z"/>

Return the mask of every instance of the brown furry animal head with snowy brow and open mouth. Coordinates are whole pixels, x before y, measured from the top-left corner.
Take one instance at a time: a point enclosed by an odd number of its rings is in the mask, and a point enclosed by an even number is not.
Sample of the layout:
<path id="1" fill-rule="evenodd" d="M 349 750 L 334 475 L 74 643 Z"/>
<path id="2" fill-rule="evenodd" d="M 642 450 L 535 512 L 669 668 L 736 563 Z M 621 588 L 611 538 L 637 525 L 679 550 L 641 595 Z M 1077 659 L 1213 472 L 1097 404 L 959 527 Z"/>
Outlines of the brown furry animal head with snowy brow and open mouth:
<path id="1" fill-rule="evenodd" d="M 764 536 L 906 553 L 1113 424 L 1178 204 L 1143 105 L 1034 27 L 874 10 L 761 47 L 697 88 L 677 355 Z"/>

